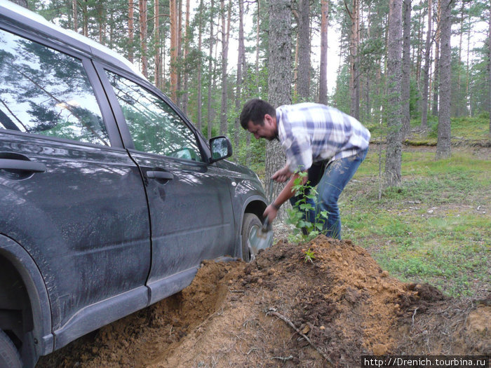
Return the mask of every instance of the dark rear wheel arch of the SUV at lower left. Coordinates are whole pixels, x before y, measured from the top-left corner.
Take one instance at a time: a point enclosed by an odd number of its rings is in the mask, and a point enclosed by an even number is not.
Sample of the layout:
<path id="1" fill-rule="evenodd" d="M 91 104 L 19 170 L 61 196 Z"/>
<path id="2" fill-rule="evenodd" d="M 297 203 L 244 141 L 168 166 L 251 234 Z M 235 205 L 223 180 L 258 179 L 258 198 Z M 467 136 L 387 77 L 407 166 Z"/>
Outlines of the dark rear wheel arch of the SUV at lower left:
<path id="1" fill-rule="evenodd" d="M 23 297 L 29 301 L 29 307 L 24 311 L 29 315 L 22 315 L 22 320 L 32 322 L 32 331 L 18 338 L 22 341 L 23 360 L 27 357 L 28 360 L 35 362 L 39 355 L 46 355 L 53 351 L 51 307 L 46 285 L 29 253 L 15 240 L 3 234 L 0 234 L 0 260 L 15 269 L 17 274 L 13 277 L 18 278 L 15 282 L 22 282 L 23 287 L 23 291 L 19 291 L 18 295 L 25 293 Z M 24 321 L 25 318 L 32 318 L 32 320 Z"/>

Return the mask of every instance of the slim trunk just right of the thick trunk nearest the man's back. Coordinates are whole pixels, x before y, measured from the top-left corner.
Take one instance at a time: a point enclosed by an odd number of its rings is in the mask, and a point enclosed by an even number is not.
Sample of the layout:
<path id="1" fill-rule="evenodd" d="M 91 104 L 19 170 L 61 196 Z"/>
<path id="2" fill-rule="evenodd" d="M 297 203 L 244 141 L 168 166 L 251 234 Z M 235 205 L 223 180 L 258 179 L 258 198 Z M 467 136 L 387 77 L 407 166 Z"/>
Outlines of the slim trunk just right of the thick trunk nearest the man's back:
<path id="1" fill-rule="evenodd" d="M 408 136 L 411 130 L 410 123 L 410 86 L 411 86 L 411 0 L 403 1 L 404 24 L 403 24 L 403 78 L 401 82 L 401 100 L 403 113 L 403 127 L 401 136 Z"/>

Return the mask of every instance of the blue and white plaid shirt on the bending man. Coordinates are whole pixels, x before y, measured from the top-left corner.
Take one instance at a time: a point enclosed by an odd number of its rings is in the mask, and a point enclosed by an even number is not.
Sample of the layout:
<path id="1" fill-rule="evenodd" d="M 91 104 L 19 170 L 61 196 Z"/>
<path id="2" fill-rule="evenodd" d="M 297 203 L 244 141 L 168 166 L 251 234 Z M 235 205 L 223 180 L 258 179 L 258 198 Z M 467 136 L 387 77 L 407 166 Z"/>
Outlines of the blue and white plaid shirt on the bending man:
<path id="1" fill-rule="evenodd" d="M 356 118 L 323 104 L 283 105 L 276 109 L 276 122 L 291 172 L 354 156 L 370 141 L 370 132 Z"/>

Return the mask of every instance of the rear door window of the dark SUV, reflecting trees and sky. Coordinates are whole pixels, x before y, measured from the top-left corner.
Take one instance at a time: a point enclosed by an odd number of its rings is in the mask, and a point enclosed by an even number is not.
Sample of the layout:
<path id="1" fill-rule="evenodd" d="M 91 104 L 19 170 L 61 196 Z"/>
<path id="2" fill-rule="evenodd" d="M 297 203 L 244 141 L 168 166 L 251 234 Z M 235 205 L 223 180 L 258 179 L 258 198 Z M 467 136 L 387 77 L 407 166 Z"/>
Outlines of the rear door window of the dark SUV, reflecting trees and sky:
<path id="1" fill-rule="evenodd" d="M 2 29 L 0 129 L 109 146 L 81 60 Z"/>

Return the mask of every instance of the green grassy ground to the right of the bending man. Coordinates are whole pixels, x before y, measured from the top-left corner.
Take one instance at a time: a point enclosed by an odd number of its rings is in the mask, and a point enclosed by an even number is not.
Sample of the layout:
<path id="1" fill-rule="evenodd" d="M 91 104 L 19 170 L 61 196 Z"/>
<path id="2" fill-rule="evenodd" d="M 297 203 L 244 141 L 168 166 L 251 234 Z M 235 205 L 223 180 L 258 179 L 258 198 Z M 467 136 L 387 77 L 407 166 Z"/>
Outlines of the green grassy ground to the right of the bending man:
<path id="1" fill-rule="evenodd" d="M 339 199 L 343 237 L 405 282 L 483 297 L 491 285 L 491 161 L 462 152 L 435 161 L 432 151 L 405 151 L 401 186 L 379 200 L 377 151 L 372 147 Z"/>

